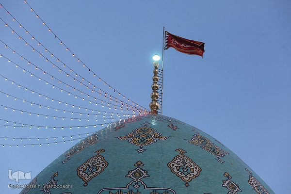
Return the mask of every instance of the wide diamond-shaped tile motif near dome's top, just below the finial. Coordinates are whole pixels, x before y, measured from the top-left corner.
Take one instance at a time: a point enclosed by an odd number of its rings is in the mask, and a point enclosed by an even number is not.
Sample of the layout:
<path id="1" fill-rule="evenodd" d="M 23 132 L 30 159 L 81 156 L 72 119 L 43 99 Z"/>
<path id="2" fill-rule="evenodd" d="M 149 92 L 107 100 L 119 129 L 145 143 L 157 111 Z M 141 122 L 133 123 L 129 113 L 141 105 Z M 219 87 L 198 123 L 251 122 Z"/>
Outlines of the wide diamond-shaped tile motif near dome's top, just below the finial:
<path id="1" fill-rule="evenodd" d="M 133 129 L 132 132 L 126 134 L 126 136 L 117 138 L 120 140 L 128 140 L 129 143 L 139 146 L 139 149 L 136 149 L 136 151 L 142 153 L 146 151 L 146 149 L 143 149 L 144 146 L 153 144 L 157 142 L 157 140 L 165 140 L 168 137 L 162 136 L 162 134 L 157 132 L 155 129 L 145 126 Z"/>

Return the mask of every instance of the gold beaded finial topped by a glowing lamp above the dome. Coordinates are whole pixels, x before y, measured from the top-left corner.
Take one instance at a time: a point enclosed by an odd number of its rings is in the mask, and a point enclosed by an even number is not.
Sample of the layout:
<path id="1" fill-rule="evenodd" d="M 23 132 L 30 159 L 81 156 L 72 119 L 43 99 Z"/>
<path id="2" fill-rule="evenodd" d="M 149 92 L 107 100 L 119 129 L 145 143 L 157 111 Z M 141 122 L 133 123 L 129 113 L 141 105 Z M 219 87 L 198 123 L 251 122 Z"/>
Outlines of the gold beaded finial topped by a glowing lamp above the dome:
<path id="1" fill-rule="evenodd" d="M 159 89 L 159 85 L 158 85 L 158 81 L 159 81 L 159 77 L 158 77 L 158 67 L 160 66 L 158 61 L 161 59 L 161 57 L 157 54 L 155 54 L 153 56 L 153 60 L 155 60 L 155 62 L 153 63 L 155 69 L 153 71 L 154 76 L 152 78 L 152 80 L 154 81 L 154 83 L 152 84 L 152 90 L 153 92 L 150 94 L 150 97 L 152 98 L 152 101 L 149 103 L 149 108 L 150 108 L 150 113 L 154 113 L 157 114 L 158 110 L 160 108 L 160 104 L 158 102 L 158 98 L 159 98 L 159 93 L 158 93 L 158 89 Z"/>

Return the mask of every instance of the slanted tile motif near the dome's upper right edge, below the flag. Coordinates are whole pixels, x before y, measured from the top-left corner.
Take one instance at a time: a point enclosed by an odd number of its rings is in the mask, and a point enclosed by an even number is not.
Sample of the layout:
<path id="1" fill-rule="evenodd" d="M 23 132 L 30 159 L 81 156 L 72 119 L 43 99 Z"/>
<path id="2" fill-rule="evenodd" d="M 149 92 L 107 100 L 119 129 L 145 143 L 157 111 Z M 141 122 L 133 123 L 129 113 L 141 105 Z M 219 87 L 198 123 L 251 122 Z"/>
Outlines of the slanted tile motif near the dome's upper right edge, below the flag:
<path id="1" fill-rule="evenodd" d="M 194 130 L 197 134 L 193 135 L 193 138 L 191 140 L 187 140 L 189 143 L 200 146 L 202 149 L 208 151 L 210 154 L 217 157 L 217 161 L 220 163 L 223 163 L 220 159 L 220 157 L 224 157 L 225 155 L 229 155 L 228 152 L 222 150 L 220 147 L 216 146 L 213 142 L 211 142 L 209 139 L 198 133 Z"/>

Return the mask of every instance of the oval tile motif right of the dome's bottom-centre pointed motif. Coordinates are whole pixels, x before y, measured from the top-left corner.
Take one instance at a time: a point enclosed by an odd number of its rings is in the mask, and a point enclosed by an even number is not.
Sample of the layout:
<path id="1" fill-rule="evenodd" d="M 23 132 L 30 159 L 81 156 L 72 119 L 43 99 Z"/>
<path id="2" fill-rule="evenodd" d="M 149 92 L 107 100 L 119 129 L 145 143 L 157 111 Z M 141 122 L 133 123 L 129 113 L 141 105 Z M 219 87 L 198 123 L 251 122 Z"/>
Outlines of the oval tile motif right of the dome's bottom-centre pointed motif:
<path id="1" fill-rule="evenodd" d="M 172 173 L 177 175 L 185 182 L 185 186 L 188 187 L 192 179 L 199 176 L 201 168 L 195 164 L 190 158 L 184 156 L 186 153 L 183 149 L 176 149 L 180 154 L 175 156 L 174 159 L 168 163 L 168 167 L 171 169 Z"/>

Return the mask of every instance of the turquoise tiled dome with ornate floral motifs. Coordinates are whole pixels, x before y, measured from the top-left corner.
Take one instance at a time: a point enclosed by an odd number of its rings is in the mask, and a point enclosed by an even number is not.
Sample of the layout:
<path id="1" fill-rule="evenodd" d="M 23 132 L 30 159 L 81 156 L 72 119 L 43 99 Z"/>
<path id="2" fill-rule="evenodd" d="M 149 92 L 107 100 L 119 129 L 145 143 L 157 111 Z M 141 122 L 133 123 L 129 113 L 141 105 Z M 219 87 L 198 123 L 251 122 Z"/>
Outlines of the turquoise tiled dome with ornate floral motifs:
<path id="1" fill-rule="evenodd" d="M 49 164 L 21 194 L 274 194 L 203 131 L 146 114 L 114 123 Z"/>

